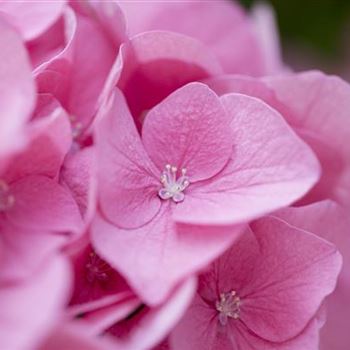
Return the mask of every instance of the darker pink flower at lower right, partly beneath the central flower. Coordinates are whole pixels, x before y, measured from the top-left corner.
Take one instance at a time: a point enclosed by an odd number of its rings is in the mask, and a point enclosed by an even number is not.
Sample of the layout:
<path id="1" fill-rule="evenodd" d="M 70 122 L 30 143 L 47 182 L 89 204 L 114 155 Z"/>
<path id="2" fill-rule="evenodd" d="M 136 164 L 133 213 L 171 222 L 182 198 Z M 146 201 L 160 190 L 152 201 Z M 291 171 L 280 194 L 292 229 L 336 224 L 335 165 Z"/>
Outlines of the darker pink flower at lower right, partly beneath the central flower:
<path id="1" fill-rule="evenodd" d="M 173 349 L 316 349 L 316 313 L 336 284 L 335 246 L 274 217 L 253 222 L 199 277 Z"/>

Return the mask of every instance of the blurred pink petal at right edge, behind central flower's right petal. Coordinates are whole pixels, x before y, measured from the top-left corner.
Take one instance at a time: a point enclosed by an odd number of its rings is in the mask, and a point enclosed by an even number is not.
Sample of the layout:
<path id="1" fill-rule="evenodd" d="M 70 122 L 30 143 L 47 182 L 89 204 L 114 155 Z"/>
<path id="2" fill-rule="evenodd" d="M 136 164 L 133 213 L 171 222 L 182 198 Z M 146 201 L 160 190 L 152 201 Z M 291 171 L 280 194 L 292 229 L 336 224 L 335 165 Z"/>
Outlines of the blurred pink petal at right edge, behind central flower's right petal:
<path id="1" fill-rule="evenodd" d="M 265 79 L 288 122 L 301 132 L 321 161 L 323 176 L 304 204 L 332 198 L 350 206 L 349 84 L 320 72 Z"/>

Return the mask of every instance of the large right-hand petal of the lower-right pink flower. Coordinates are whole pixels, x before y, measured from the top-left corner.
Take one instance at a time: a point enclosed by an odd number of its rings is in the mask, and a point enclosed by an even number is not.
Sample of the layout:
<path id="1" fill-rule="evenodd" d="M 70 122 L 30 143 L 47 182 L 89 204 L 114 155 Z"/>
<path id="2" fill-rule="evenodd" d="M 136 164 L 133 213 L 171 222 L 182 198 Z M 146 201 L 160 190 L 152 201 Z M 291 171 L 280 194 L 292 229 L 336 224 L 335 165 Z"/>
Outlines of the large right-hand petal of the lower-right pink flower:
<path id="1" fill-rule="evenodd" d="M 341 256 L 328 242 L 278 219 L 261 219 L 252 230 L 261 255 L 241 292 L 240 318 L 262 339 L 285 341 L 305 328 L 334 290 Z"/>

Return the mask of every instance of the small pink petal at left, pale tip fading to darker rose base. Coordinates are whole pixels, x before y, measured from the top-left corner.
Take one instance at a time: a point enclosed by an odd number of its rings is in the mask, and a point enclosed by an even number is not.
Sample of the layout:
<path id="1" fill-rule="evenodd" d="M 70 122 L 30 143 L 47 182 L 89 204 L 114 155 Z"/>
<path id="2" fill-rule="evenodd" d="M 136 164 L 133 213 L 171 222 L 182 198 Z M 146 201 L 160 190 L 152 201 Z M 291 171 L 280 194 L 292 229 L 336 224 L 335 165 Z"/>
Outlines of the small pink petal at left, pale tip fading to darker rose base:
<path id="1" fill-rule="evenodd" d="M 33 121 L 28 134 L 30 143 L 22 153 L 13 157 L 4 174 L 8 183 L 28 175 L 56 177 L 71 147 L 71 128 L 61 107 L 53 108 L 45 118 Z"/>

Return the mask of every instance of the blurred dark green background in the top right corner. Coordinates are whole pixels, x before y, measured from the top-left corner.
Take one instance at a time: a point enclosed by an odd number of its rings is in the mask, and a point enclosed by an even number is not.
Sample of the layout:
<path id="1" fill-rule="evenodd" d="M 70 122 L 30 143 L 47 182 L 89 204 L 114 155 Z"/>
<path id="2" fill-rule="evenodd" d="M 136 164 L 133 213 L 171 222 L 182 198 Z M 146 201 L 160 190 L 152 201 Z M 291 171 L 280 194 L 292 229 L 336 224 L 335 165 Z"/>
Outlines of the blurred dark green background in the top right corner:
<path id="1" fill-rule="evenodd" d="M 246 7 L 261 2 L 240 0 Z M 265 0 L 276 14 L 285 61 L 350 77 L 350 0 Z"/>

